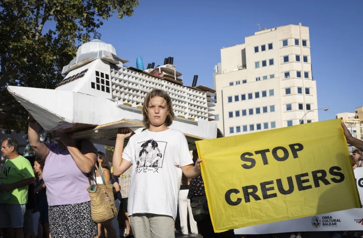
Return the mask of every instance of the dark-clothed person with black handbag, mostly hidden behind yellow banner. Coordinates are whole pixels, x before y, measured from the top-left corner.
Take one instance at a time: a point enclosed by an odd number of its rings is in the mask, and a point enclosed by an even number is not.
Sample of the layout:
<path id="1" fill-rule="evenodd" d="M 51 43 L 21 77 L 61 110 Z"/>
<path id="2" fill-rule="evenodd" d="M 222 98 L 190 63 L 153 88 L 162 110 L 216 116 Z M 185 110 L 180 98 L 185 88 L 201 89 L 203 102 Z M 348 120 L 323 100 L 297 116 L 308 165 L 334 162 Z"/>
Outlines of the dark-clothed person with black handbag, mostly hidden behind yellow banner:
<path id="1" fill-rule="evenodd" d="M 217 138 L 224 137 L 223 133 L 217 128 Z M 193 160 L 198 160 L 198 152 L 193 150 Z M 234 230 L 228 230 L 221 233 L 215 233 L 213 230 L 211 215 L 209 214 L 208 201 L 205 195 L 204 181 L 202 175 L 191 179 L 189 186 L 188 198 L 191 202 L 200 202 L 203 204 L 205 218 L 197 222 L 197 227 L 203 237 L 208 238 L 234 238 Z"/>

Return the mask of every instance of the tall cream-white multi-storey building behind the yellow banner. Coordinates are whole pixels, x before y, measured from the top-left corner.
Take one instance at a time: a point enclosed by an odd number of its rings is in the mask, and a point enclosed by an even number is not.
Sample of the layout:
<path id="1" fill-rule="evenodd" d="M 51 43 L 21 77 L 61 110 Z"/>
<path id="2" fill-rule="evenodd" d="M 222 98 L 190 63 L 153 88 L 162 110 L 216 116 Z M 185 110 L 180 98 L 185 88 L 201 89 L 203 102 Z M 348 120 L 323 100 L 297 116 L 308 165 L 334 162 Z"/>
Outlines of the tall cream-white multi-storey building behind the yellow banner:
<path id="1" fill-rule="evenodd" d="M 299 124 L 318 108 L 309 27 L 264 29 L 244 44 L 223 47 L 213 79 L 213 113 L 226 136 Z M 316 121 L 318 110 L 302 123 Z"/>

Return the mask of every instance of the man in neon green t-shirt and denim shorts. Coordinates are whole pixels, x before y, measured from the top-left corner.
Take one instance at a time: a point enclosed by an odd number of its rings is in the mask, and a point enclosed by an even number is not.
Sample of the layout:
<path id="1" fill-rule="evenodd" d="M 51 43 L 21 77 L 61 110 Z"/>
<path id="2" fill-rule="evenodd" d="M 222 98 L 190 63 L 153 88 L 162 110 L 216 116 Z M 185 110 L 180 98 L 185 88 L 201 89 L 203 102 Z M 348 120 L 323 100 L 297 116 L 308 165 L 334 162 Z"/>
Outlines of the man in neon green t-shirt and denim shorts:
<path id="1" fill-rule="evenodd" d="M 28 186 L 35 181 L 29 160 L 18 154 L 19 143 L 8 138 L 1 143 L 7 160 L 0 172 L 0 227 L 7 238 L 23 238 Z"/>

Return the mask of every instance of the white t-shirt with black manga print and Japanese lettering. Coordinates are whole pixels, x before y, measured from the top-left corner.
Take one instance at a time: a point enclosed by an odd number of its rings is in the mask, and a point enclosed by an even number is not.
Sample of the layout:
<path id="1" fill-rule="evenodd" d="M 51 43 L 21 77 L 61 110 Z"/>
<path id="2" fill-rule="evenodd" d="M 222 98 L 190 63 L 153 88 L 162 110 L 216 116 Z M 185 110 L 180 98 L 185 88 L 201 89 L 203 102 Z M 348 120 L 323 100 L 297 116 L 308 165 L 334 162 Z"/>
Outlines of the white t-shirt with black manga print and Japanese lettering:
<path id="1" fill-rule="evenodd" d="M 183 132 L 145 130 L 131 136 L 122 158 L 133 165 L 127 211 L 176 218 L 181 168 L 192 164 Z"/>

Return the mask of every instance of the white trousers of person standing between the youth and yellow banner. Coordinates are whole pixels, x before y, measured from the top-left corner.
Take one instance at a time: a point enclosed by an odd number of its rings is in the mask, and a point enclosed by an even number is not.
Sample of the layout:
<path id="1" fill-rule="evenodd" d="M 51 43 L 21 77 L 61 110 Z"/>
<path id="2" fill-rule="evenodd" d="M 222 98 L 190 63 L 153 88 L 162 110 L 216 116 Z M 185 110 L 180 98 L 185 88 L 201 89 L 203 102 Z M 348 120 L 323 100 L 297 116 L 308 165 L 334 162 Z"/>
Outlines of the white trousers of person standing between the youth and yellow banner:
<path id="1" fill-rule="evenodd" d="M 179 205 L 179 217 L 180 217 L 180 227 L 181 233 L 184 235 L 188 234 L 188 213 L 189 213 L 189 225 L 190 231 L 193 234 L 198 234 L 197 222 L 194 221 L 192 208 L 190 206 L 190 199 L 188 196 L 188 189 L 179 190 L 178 194 L 178 205 Z"/>

